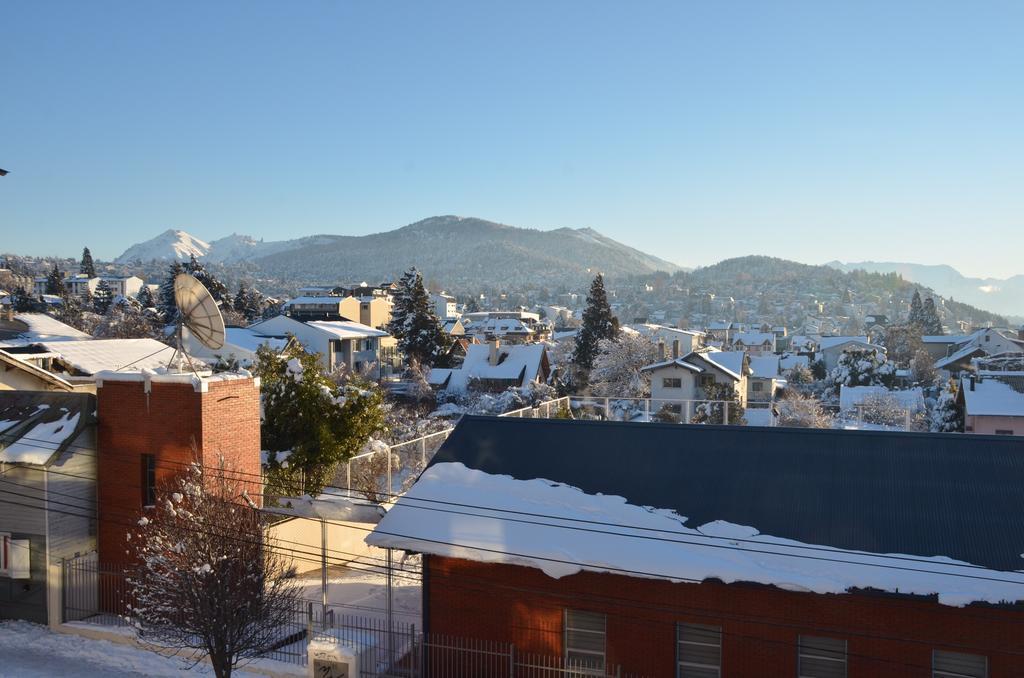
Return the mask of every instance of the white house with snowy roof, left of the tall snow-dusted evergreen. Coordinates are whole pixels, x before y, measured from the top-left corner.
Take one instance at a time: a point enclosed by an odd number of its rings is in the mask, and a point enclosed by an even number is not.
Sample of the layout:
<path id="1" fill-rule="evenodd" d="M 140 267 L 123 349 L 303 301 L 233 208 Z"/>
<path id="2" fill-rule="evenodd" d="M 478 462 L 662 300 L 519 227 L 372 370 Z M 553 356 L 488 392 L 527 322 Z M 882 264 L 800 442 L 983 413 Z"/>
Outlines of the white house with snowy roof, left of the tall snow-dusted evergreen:
<path id="1" fill-rule="evenodd" d="M 310 353 L 318 353 L 328 371 L 339 367 L 358 372 L 372 363 L 380 363 L 381 339 L 388 337 L 383 330 L 351 321 L 309 321 L 303 323 L 287 315 L 250 325 L 255 334 L 265 337 L 294 336 Z"/>

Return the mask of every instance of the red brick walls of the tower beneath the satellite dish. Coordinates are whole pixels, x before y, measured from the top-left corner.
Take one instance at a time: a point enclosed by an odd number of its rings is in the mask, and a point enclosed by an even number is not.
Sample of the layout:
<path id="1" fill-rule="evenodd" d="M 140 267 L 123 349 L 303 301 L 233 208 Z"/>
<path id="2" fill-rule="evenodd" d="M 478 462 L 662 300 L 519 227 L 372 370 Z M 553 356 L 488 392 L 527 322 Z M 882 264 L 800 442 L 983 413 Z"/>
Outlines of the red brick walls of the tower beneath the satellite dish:
<path id="1" fill-rule="evenodd" d="M 189 464 L 240 471 L 250 496 L 260 486 L 259 388 L 252 379 L 191 383 L 104 380 L 97 389 L 98 549 L 101 562 L 128 560 L 126 523 L 142 510 L 142 455 L 157 462 L 158 486 Z M 255 474 L 255 475 L 249 475 Z"/>

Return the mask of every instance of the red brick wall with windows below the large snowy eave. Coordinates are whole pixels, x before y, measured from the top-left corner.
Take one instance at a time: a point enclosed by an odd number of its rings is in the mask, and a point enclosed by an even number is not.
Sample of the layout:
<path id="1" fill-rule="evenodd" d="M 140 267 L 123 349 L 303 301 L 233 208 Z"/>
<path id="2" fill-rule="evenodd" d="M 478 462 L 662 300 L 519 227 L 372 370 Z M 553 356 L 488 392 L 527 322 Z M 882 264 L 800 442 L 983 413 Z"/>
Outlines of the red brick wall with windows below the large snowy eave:
<path id="1" fill-rule="evenodd" d="M 801 634 L 847 641 L 848 675 L 931 676 L 933 649 L 989 659 L 989 676 L 1024 676 L 1024 608 L 940 605 L 874 594 L 818 595 L 760 585 L 673 584 L 429 556 L 427 631 L 507 641 L 561 654 L 565 607 L 607 616 L 607 661 L 624 672 L 674 676 L 677 623 L 722 628 L 722 675 L 797 675 Z"/>

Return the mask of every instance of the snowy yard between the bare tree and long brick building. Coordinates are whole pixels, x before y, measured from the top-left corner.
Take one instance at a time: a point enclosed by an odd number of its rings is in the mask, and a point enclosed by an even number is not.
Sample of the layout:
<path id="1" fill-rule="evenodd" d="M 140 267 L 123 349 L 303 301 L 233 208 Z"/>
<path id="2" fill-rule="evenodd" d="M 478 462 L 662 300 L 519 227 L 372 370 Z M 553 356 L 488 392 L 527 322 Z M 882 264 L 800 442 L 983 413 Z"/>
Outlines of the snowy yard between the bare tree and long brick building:
<path id="1" fill-rule="evenodd" d="M 383 552 L 382 557 L 383 557 Z M 392 605 L 395 619 L 407 624 L 421 626 L 422 592 L 420 588 L 420 565 L 409 563 L 408 571 L 396 571 L 393 577 Z M 395 554 L 394 564 L 399 566 L 401 558 Z M 383 564 L 374 561 L 373 565 Z M 370 567 L 356 564 L 356 567 Z M 375 567 L 376 568 L 376 567 Z M 303 600 L 321 599 L 321 573 L 318 569 L 305 573 L 296 580 L 302 588 Z M 331 567 L 328 571 L 328 602 L 335 615 L 350 615 L 375 620 L 387 619 L 387 577 L 382 571 L 357 571 L 349 567 Z"/>

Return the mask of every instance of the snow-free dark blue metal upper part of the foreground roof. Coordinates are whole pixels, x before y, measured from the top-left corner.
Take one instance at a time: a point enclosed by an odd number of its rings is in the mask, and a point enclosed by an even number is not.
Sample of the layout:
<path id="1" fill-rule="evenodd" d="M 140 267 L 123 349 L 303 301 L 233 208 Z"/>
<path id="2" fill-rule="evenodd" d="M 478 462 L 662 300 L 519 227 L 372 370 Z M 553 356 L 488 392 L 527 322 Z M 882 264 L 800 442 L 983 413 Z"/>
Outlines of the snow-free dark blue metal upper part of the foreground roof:
<path id="1" fill-rule="evenodd" d="M 1024 570 L 1024 438 L 463 417 L 431 465 L 872 553 Z"/>

